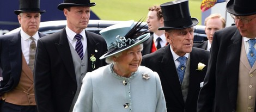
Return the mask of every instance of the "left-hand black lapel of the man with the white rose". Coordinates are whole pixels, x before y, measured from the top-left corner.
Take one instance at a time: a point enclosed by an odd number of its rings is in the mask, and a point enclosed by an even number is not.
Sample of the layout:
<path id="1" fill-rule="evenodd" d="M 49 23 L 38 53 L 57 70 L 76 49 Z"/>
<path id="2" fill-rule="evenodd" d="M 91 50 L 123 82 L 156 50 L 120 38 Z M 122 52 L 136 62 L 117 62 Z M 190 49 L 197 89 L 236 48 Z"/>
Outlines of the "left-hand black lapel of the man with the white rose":
<path id="1" fill-rule="evenodd" d="M 168 91 L 168 92 L 173 92 L 175 97 L 178 98 L 178 100 L 180 101 L 180 103 L 182 105 L 184 105 L 184 100 L 183 100 L 183 96 L 182 96 L 182 92 L 181 92 L 181 85 L 179 82 L 179 77 L 178 77 L 178 73 L 176 71 L 176 66 L 173 60 L 173 55 L 170 52 L 170 45 L 164 47 L 164 52 L 163 52 L 163 59 L 160 62 L 160 68 L 162 68 L 161 71 L 163 71 L 164 75 L 164 81 L 168 83 L 169 87 L 171 89 L 169 90 L 174 90 L 174 91 Z M 168 73 L 168 74 L 167 74 Z M 163 79 L 163 78 L 162 78 Z M 161 79 L 161 81 L 162 81 Z M 171 94 L 169 94 L 171 95 Z"/>

